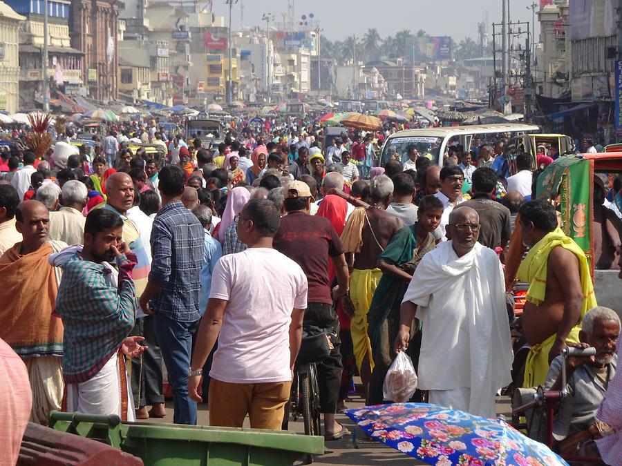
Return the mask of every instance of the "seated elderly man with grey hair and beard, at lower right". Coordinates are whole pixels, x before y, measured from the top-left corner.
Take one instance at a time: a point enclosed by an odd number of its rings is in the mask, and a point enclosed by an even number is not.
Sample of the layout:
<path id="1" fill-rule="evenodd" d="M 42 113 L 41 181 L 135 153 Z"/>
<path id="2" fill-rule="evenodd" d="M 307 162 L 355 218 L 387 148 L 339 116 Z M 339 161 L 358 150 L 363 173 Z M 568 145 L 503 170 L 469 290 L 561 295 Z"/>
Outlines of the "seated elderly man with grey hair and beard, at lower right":
<path id="1" fill-rule="evenodd" d="M 581 343 L 574 347 L 594 347 L 596 356 L 569 357 L 566 360 L 566 380 L 569 395 L 555 415 L 553 434 L 559 449 L 565 453 L 598 455 L 593 438 L 596 434 L 596 411 L 605 398 L 610 380 L 616 372 L 616 342 L 620 318 L 607 307 L 594 307 L 583 317 L 579 333 Z M 562 356 L 551 363 L 546 389 L 560 390 Z"/>

